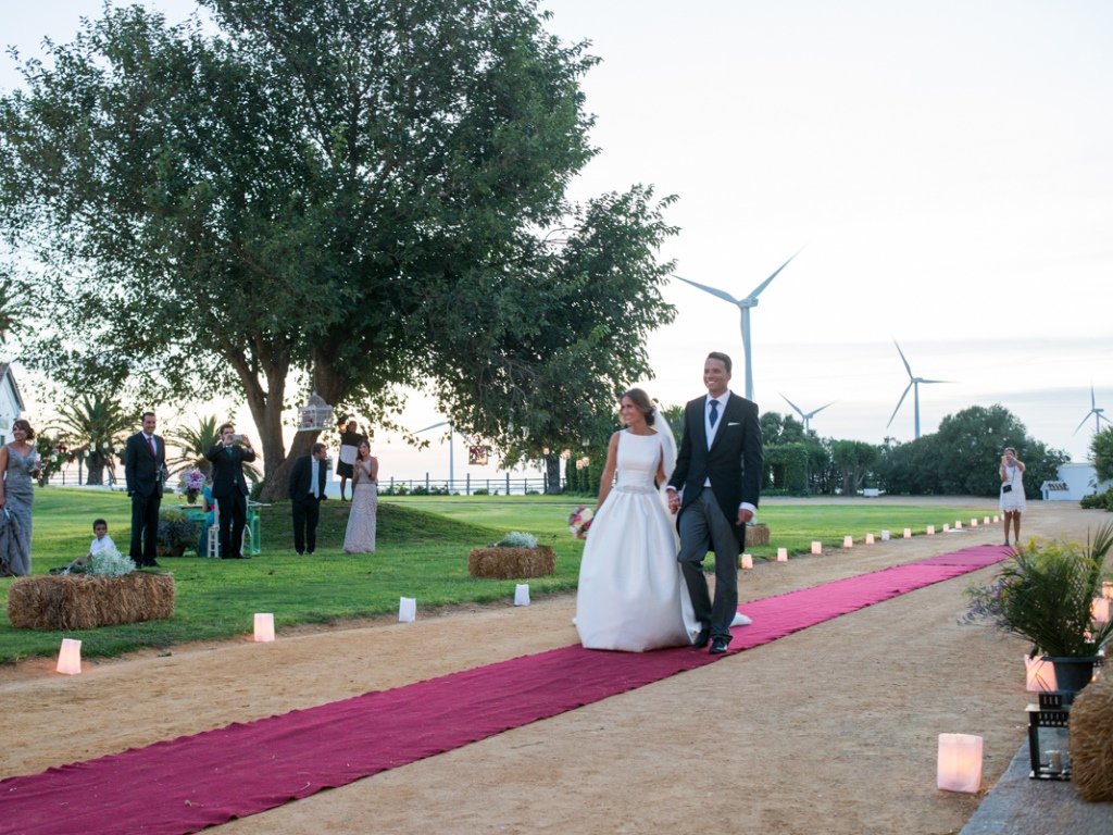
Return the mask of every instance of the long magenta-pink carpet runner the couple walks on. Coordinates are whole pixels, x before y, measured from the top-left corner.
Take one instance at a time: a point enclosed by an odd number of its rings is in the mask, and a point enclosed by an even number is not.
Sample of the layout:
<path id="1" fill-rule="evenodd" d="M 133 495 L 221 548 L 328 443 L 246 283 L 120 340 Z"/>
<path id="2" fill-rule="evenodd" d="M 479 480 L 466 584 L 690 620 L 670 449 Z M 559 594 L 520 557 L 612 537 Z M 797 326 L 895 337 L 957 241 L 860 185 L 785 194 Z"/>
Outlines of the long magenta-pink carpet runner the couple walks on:
<path id="1" fill-rule="evenodd" d="M 730 652 L 993 564 L 979 546 L 746 603 Z M 0 780 L 0 833 L 185 835 L 556 716 L 726 656 L 579 646 Z M 2 741 L 0 741 L 2 747 Z"/>

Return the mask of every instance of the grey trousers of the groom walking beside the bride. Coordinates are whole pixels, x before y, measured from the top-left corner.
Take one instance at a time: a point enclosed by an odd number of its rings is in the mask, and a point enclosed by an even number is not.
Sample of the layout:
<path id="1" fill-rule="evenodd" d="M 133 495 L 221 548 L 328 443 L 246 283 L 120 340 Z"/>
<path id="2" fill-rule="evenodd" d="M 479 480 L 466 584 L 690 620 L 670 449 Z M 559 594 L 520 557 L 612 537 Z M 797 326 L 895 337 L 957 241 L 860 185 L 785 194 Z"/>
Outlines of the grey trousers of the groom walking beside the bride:
<path id="1" fill-rule="evenodd" d="M 702 492 L 680 514 L 680 569 L 688 586 L 696 619 L 710 627 L 711 639 L 730 642 L 730 622 L 738 611 L 738 554 L 741 548 L 733 525 L 722 514 L 711 488 Z M 703 576 L 708 548 L 715 551 L 715 603 Z"/>

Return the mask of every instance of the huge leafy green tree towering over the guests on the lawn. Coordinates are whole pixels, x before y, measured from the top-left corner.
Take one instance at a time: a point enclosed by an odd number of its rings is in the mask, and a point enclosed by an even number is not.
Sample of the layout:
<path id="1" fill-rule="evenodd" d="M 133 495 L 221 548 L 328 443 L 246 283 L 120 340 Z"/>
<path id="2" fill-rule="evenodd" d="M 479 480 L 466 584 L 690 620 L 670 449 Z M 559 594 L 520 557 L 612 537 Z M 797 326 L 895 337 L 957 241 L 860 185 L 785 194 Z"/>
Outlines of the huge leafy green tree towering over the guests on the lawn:
<path id="1" fill-rule="evenodd" d="M 268 498 L 309 387 L 381 424 L 424 387 L 510 461 L 593 440 L 672 315 L 674 230 L 648 188 L 564 197 L 585 45 L 534 0 L 199 2 L 216 35 L 109 11 L 0 100 L 0 223 L 52 288 L 37 364 L 242 399 Z"/>

